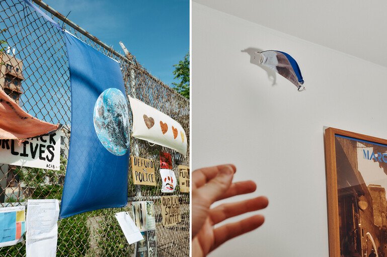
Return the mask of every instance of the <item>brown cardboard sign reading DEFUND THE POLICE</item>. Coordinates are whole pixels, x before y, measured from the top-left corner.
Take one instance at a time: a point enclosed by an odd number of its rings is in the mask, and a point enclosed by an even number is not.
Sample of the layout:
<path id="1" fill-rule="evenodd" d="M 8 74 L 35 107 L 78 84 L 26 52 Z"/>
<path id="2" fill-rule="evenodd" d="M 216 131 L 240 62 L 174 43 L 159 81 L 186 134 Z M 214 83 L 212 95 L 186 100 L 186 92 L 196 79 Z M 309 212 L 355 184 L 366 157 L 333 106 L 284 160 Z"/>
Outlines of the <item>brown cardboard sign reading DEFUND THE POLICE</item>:
<path id="1" fill-rule="evenodd" d="M 130 156 L 132 163 L 132 175 L 133 184 L 135 185 L 147 185 L 156 186 L 156 176 L 154 176 L 154 161 L 137 157 Z"/>

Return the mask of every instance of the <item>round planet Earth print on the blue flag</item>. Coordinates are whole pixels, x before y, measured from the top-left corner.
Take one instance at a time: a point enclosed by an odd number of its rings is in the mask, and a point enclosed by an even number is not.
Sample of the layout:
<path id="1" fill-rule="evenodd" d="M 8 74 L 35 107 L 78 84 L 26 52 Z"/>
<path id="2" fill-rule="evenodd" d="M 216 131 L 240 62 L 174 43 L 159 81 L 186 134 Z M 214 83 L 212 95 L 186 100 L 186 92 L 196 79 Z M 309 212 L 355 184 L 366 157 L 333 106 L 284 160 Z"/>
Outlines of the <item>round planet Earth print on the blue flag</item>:
<path id="1" fill-rule="evenodd" d="M 102 145 L 114 155 L 129 149 L 129 110 L 124 94 L 110 88 L 102 92 L 94 106 L 94 129 Z"/>

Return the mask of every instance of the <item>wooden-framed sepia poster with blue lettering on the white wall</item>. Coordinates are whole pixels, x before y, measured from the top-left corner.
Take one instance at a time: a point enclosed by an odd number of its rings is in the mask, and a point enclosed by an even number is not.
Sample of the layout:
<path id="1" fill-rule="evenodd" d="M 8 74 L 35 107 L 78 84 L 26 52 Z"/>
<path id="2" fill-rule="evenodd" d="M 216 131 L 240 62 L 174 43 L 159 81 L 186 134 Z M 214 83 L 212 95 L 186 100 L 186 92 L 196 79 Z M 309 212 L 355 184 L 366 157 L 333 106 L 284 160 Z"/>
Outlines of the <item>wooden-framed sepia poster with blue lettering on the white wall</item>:
<path id="1" fill-rule="evenodd" d="M 387 256 L 387 140 L 325 130 L 330 256 Z"/>

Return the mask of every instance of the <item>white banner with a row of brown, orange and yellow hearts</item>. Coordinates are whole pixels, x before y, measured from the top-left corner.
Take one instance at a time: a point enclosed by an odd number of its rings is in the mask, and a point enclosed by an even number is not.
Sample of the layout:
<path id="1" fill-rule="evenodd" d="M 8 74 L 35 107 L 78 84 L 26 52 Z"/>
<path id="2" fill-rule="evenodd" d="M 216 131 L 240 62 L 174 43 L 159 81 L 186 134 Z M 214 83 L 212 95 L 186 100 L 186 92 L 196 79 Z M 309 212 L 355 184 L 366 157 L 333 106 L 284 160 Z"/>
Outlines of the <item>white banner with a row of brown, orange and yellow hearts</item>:
<path id="1" fill-rule="evenodd" d="M 187 136 L 177 121 L 137 99 L 129 97 L 129 102 L 133 114 L 133 137 L 169 147 L 186 156 Z"/>

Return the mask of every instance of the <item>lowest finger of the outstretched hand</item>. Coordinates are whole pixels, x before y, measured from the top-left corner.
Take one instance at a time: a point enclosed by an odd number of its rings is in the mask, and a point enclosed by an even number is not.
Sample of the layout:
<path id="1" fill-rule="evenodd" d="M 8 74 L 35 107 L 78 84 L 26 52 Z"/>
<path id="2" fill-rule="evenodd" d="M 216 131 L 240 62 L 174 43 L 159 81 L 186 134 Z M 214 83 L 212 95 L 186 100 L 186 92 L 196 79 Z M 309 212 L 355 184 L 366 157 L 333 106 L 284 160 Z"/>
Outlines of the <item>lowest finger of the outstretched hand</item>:
<path id="1" fill-rule="evenodd" d="M 238 222 L 225 224 L 221 227 L 215 228 L 215 241 L 211 247 L 211 251 L 231 238 L 245 234 L 260 227 L 264 221 L 265 218 L 262 215 L 255 215 L 250 218 L 240 220 Z"/>

